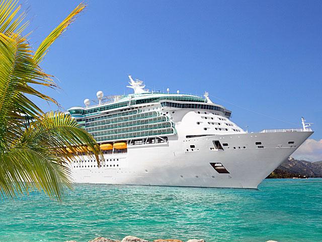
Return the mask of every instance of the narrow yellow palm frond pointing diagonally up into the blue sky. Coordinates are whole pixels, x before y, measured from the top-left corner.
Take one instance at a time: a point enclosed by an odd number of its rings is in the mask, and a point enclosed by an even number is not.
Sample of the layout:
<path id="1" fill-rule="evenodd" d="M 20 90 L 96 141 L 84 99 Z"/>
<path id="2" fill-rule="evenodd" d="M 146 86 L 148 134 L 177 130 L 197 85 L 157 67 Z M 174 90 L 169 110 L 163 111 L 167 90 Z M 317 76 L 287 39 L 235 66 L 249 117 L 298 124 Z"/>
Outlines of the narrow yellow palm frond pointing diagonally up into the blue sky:
<path id="1" fill-rule="evenodd" d="M 79 4 L 39 45 L 35 52 L 34 59 L 40 63 L 46 55 L 50 45 L 68 28 L 76 16 L 85 9 L 84 3 Z"/>

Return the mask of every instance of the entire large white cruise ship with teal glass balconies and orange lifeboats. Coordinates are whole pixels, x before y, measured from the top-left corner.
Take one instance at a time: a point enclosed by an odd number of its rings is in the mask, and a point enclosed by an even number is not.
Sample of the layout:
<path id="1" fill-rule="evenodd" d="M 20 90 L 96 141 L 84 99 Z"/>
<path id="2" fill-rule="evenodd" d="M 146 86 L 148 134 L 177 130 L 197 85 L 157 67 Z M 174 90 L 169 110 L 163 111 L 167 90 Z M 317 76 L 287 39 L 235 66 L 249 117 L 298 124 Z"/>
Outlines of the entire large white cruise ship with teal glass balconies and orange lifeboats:
<path id="1" fill-rule="evenodd" d="M 100 144 L 104 161 L 75 153 L 75 183 L 256 189 L 313 132 L 249 133 L 231 111 L 204 97 L 144 89 L 129 76 L 133 94 L 105 97 L 68 109 Z"/>

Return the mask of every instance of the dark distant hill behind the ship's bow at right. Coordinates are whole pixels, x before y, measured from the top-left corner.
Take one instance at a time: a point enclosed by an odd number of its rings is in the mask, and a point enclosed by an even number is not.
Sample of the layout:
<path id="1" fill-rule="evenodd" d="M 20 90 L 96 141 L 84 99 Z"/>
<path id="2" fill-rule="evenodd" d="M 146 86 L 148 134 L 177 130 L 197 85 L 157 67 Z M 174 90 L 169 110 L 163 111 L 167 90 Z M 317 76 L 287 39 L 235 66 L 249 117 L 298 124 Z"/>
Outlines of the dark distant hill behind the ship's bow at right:
<path id="1" fill-rule="evenodd" d="M 322 177 L 322 161 L 309 162 L 289 157 L 267 178 Z"/>

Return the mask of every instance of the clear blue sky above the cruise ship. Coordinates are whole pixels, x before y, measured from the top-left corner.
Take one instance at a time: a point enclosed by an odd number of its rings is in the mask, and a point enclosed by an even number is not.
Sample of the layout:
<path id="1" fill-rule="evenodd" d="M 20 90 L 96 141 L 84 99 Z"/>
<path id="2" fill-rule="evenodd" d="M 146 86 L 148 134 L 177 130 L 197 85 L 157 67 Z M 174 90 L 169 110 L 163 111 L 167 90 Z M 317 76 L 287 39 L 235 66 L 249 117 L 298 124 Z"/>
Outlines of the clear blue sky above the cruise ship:
<path id="1" fill-rule="evenodd" d="M 37 47 L 78 2 L 22 3 Z M 295 128 L 304 116 L 322 138 L 321 1 L 87 3 L 42 64 L 60 86 L 43 91 L 65 109 L 98 90 L 128 93 L 131 74 L 150 89 L 208 91 L 241 128 Z"/>

